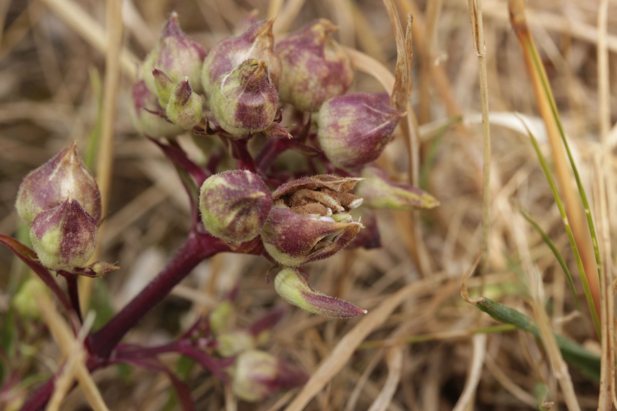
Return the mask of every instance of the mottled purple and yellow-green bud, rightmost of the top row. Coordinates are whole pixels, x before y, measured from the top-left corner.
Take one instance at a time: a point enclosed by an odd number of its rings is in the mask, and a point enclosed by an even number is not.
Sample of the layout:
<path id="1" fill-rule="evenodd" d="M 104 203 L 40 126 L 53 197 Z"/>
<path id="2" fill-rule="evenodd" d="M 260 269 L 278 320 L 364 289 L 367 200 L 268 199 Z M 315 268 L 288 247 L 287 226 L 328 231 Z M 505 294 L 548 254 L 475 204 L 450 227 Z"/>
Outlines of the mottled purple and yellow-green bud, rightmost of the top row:
<path id="1" fill-rule="evenodd" d="M 347 91 L 354 80 L 349 57 L 332 38 L 336 26 L 315 20 L 276 44 L 283 63 L 281 100 L 299 110 L 315 111 Z"/>

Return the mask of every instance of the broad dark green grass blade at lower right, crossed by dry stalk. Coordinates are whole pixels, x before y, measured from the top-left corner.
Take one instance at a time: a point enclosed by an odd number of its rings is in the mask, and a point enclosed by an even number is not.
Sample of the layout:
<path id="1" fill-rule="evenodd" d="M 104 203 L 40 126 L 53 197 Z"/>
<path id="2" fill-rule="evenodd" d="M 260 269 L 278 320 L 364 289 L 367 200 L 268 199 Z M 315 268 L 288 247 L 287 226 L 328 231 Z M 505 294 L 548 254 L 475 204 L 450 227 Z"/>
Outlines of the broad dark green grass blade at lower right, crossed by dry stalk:
<path id="1" fill-rule="evenodd" d="M 497 303 L 490 298 L 480 298 L 476 301 L 476 307 L 495 320 L 504 324 L 514 325 L 519 330 L 526 331 L 540 340 L 540 333 L 536 325 L 527 315 L 513 308 Z M 555 340 L 565 359 L 583 375 L 594 381 L 600 381 L 600 357 L 582 348 L 574 341 L 568 340 L 563 335 L 555 334 Z"/>

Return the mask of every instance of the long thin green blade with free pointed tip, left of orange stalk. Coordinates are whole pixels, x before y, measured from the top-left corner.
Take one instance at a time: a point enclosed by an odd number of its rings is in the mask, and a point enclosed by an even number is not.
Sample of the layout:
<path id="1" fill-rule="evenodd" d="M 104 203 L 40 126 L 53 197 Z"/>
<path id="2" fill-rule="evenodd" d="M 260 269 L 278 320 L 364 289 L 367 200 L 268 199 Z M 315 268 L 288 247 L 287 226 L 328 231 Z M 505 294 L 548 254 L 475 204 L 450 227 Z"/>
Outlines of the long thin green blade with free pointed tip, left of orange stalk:
<path id="1" fill-rule="evenodd" d="M 566 233 L 568 234 L 568 240 L 570 242 L 570 247 L 572 248 L 572 253 L 574 254 L 574 259 L 576 260 L 576 266 L 578 267 L 579 272 L 581 273 L 581 281 L 582 288 L 585 291 L 585 298 L 587 299 L 587 306 L 589 306 L 589 311 L 591 312 L 591 318 L 594 321 L 595 332 L 598 335 L 598 338 L 602 335 L 602 331 L 600 330 L 600 319 L 598 319 L 597 311 L 595 310 L 594 299 L 591 296 L 591 290 L 589 288 L 589 282 L 587 281 L 587 275 L 585 273 L 585 269 L 582 266 L 581 253 L 579 253 L 578 246 L 576 245 L 576 241 L 574 240 L 574 234 L 572 233 L 572 228 L 570 227 L 570 223 L 568 222 L 568 216 L 566 215 L 566 210 L 563 206 L 563 201 L 559 197 L 559 192 L 557 191 L 557 185 L 555 184 L 555 179 L 553 179 L 552 174 L 550 174 L 549 165 L 547 164 L 546 158 L 542 155 L 542 151 L 540 150 L 540 146 L 536 140 L 536 137 L 533 135 L 531 130 L 528 128 L 527 124 L 521 120 L 527 133 L 529 134 L 529 139 L 531 140 L 531 144 L 536 150 L 536 155 L 538 160 L 540 161 L 540 166 L 542 166 L 542 171 L 544 171 L 544 175 L 546 176 L 547 182 L 550 185 L 550 190 L 553 193 L 553 197 L 555 198 L 555 203 L 557 204 L 557 208 L 559 208 L 559 213 L 561 214 L 561 221 L 563 221 L 563 226 L 566 229 Z"/>

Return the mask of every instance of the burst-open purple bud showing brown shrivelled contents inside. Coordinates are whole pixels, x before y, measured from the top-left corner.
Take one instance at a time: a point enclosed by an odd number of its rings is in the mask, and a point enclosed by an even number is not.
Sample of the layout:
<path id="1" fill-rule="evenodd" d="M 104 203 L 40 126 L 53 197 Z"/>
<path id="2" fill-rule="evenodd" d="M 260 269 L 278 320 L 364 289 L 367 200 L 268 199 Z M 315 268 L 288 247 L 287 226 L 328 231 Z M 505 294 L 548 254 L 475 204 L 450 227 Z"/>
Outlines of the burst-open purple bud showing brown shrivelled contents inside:
<path id="1" fill-rule="evenodd" d="M 362 199 L 349 193 L 360 179 L 314 176 L 281 185 L 263 225 L 263 246 L 283 266 L 296 267 L 342 250 L 363 227 L 349 211 Z"/>

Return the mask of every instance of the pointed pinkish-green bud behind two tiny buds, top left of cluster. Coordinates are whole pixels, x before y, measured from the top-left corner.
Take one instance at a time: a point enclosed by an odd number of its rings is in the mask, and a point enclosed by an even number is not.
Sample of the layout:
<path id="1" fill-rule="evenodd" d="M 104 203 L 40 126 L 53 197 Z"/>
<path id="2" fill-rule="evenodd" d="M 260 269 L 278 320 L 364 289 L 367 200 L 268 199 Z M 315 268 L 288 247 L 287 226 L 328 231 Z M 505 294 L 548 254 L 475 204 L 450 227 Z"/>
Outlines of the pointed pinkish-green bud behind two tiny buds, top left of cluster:
<path id="1" fill-rule="evenodd" d="M 154 49 L 147 55 L 141 67 L 141 78 L 146 87 L 152 93 L 157 89 L 152 76 L 152 69 L 164 71 L 172 79 L 173 84 L 178 83 L 185 76 L 189 78 L 195 88 L 195 92 L 201 92 L 201 65 L 207 52 L 190 36 L 180 30 L 178 15 L 172 13 L 163 28 L 159 41 Z"/>

